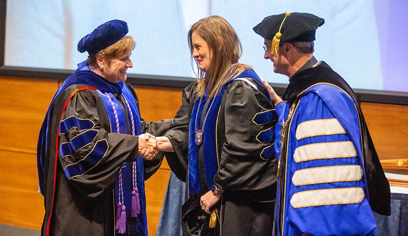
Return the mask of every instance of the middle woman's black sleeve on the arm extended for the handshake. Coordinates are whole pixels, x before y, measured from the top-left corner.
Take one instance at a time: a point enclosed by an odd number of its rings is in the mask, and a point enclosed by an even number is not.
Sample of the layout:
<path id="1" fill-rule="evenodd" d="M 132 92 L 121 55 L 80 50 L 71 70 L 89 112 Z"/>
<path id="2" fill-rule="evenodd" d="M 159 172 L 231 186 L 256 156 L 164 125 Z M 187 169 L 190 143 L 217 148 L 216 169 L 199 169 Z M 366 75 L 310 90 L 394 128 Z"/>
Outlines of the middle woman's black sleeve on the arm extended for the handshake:
<path id="1" fill-rule="evenodd" d="M 182 105 L 174 116 L 169 131 L 164 135 L 170 139 L 174 153 L 166 152 L 167 163 L 173 173 L 183 182 L 186 182 L 188 170 L 188 135 L 191 112 L 196 100 L 197 82 L 188 85 L 182 94 Z"/>

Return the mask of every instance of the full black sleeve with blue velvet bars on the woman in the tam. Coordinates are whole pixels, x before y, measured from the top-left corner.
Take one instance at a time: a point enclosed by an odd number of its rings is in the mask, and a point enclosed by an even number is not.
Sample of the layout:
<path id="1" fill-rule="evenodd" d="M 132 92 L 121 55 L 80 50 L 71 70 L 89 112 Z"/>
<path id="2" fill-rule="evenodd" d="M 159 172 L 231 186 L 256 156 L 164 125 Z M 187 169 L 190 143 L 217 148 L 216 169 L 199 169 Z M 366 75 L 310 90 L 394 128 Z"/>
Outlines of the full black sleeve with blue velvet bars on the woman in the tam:
<path id="1" fill-rule="evenodd" d="M 71 184 L 84 196 L 95 198 L 112 189 L 123 162 L 133 162 L 138 153 L 138 136 L 111 133 L 109 118 L 103 102 L 94 90 L 75 93 L 62 114 L 62 121 L 73 117 L 93 123 L 75 126 L 60 134 L 59 149 L 74 139 L 86 143 L 73 155 L 63 156 L 60 163 Z M 88 135 L 89 133 L 96 135 Z M 99 160 L 100 159 L 100 160 Z M 98 160 L 98 161 L 95 161 Z M 70 167 L 68 167 L 70 166 Z M 78 166 L 78 168 L 71 168 Z M 67 168 L 68 167 L 68 168 Z"/>

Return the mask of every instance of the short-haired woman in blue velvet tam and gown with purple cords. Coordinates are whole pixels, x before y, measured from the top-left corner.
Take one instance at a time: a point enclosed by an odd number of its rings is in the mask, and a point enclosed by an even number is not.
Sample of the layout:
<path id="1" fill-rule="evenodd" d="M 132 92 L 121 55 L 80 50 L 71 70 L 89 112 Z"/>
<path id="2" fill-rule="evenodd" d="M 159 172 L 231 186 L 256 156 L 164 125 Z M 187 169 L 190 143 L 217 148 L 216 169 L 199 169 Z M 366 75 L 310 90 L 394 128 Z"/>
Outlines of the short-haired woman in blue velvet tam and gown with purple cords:
<path id="1" fill-rule="evenodd" d="M 127 31 L 111 20 L 82 38 L 78 51 L 88 59 L 48 108 L 37 147 L 42 235 L 147 235 L 144 180 L 161 158 L 155 137 L 143 133 L 163 135 L 171 120 L 140 118 L 126 81 L 135 48 Z"/>

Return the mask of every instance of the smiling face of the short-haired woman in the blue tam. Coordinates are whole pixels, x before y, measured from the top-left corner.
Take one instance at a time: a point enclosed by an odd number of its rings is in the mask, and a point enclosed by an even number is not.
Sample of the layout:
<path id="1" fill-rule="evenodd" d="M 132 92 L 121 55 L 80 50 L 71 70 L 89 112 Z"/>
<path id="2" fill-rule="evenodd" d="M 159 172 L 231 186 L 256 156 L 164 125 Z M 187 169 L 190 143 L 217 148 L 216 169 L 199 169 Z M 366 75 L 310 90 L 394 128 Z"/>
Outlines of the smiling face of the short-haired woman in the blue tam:
<path id="1" fill-rule="evenodd" d="M 132 68 L 133 63 L 131 60 L 132 51 L 119 55 L 111 60 L 111 63 L 107 65 L 107 61 L 104 60 L 102 76 L 111 83 L 117 83 L 119 81 L 126 80 L 127 68 Z"/>

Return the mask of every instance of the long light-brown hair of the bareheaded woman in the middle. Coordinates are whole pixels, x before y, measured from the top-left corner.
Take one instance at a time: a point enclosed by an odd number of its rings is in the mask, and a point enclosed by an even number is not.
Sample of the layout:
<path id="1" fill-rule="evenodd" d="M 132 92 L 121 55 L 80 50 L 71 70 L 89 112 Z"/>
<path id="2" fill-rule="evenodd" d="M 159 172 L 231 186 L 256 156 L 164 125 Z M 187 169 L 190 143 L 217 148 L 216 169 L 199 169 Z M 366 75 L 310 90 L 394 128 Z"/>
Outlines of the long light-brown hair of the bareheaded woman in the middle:
<path id="1" fill-rule="evenodd" d="M 210 69 L 207 73 L 198 67 L 198 61 L 193 57 L 194 46 L 192 34 L 196 32 L 203 38 L 212 52 Z M 190 46 L 191 65 L 197 66 L 197 97 L 202 96 L 207 89 L 209 97 L 214 97 L 218 84 L 221 82 L 225 72 L 231 65 L 238 63 L 242 55 L 242 45 L 234 28 L 221 16 L 209 16 L 194 23 L 188 32 L 188 43 Z M 221 86 L 235 76 L 241 74 L 248 65 L 237 64 L 225 77 Z"/>

